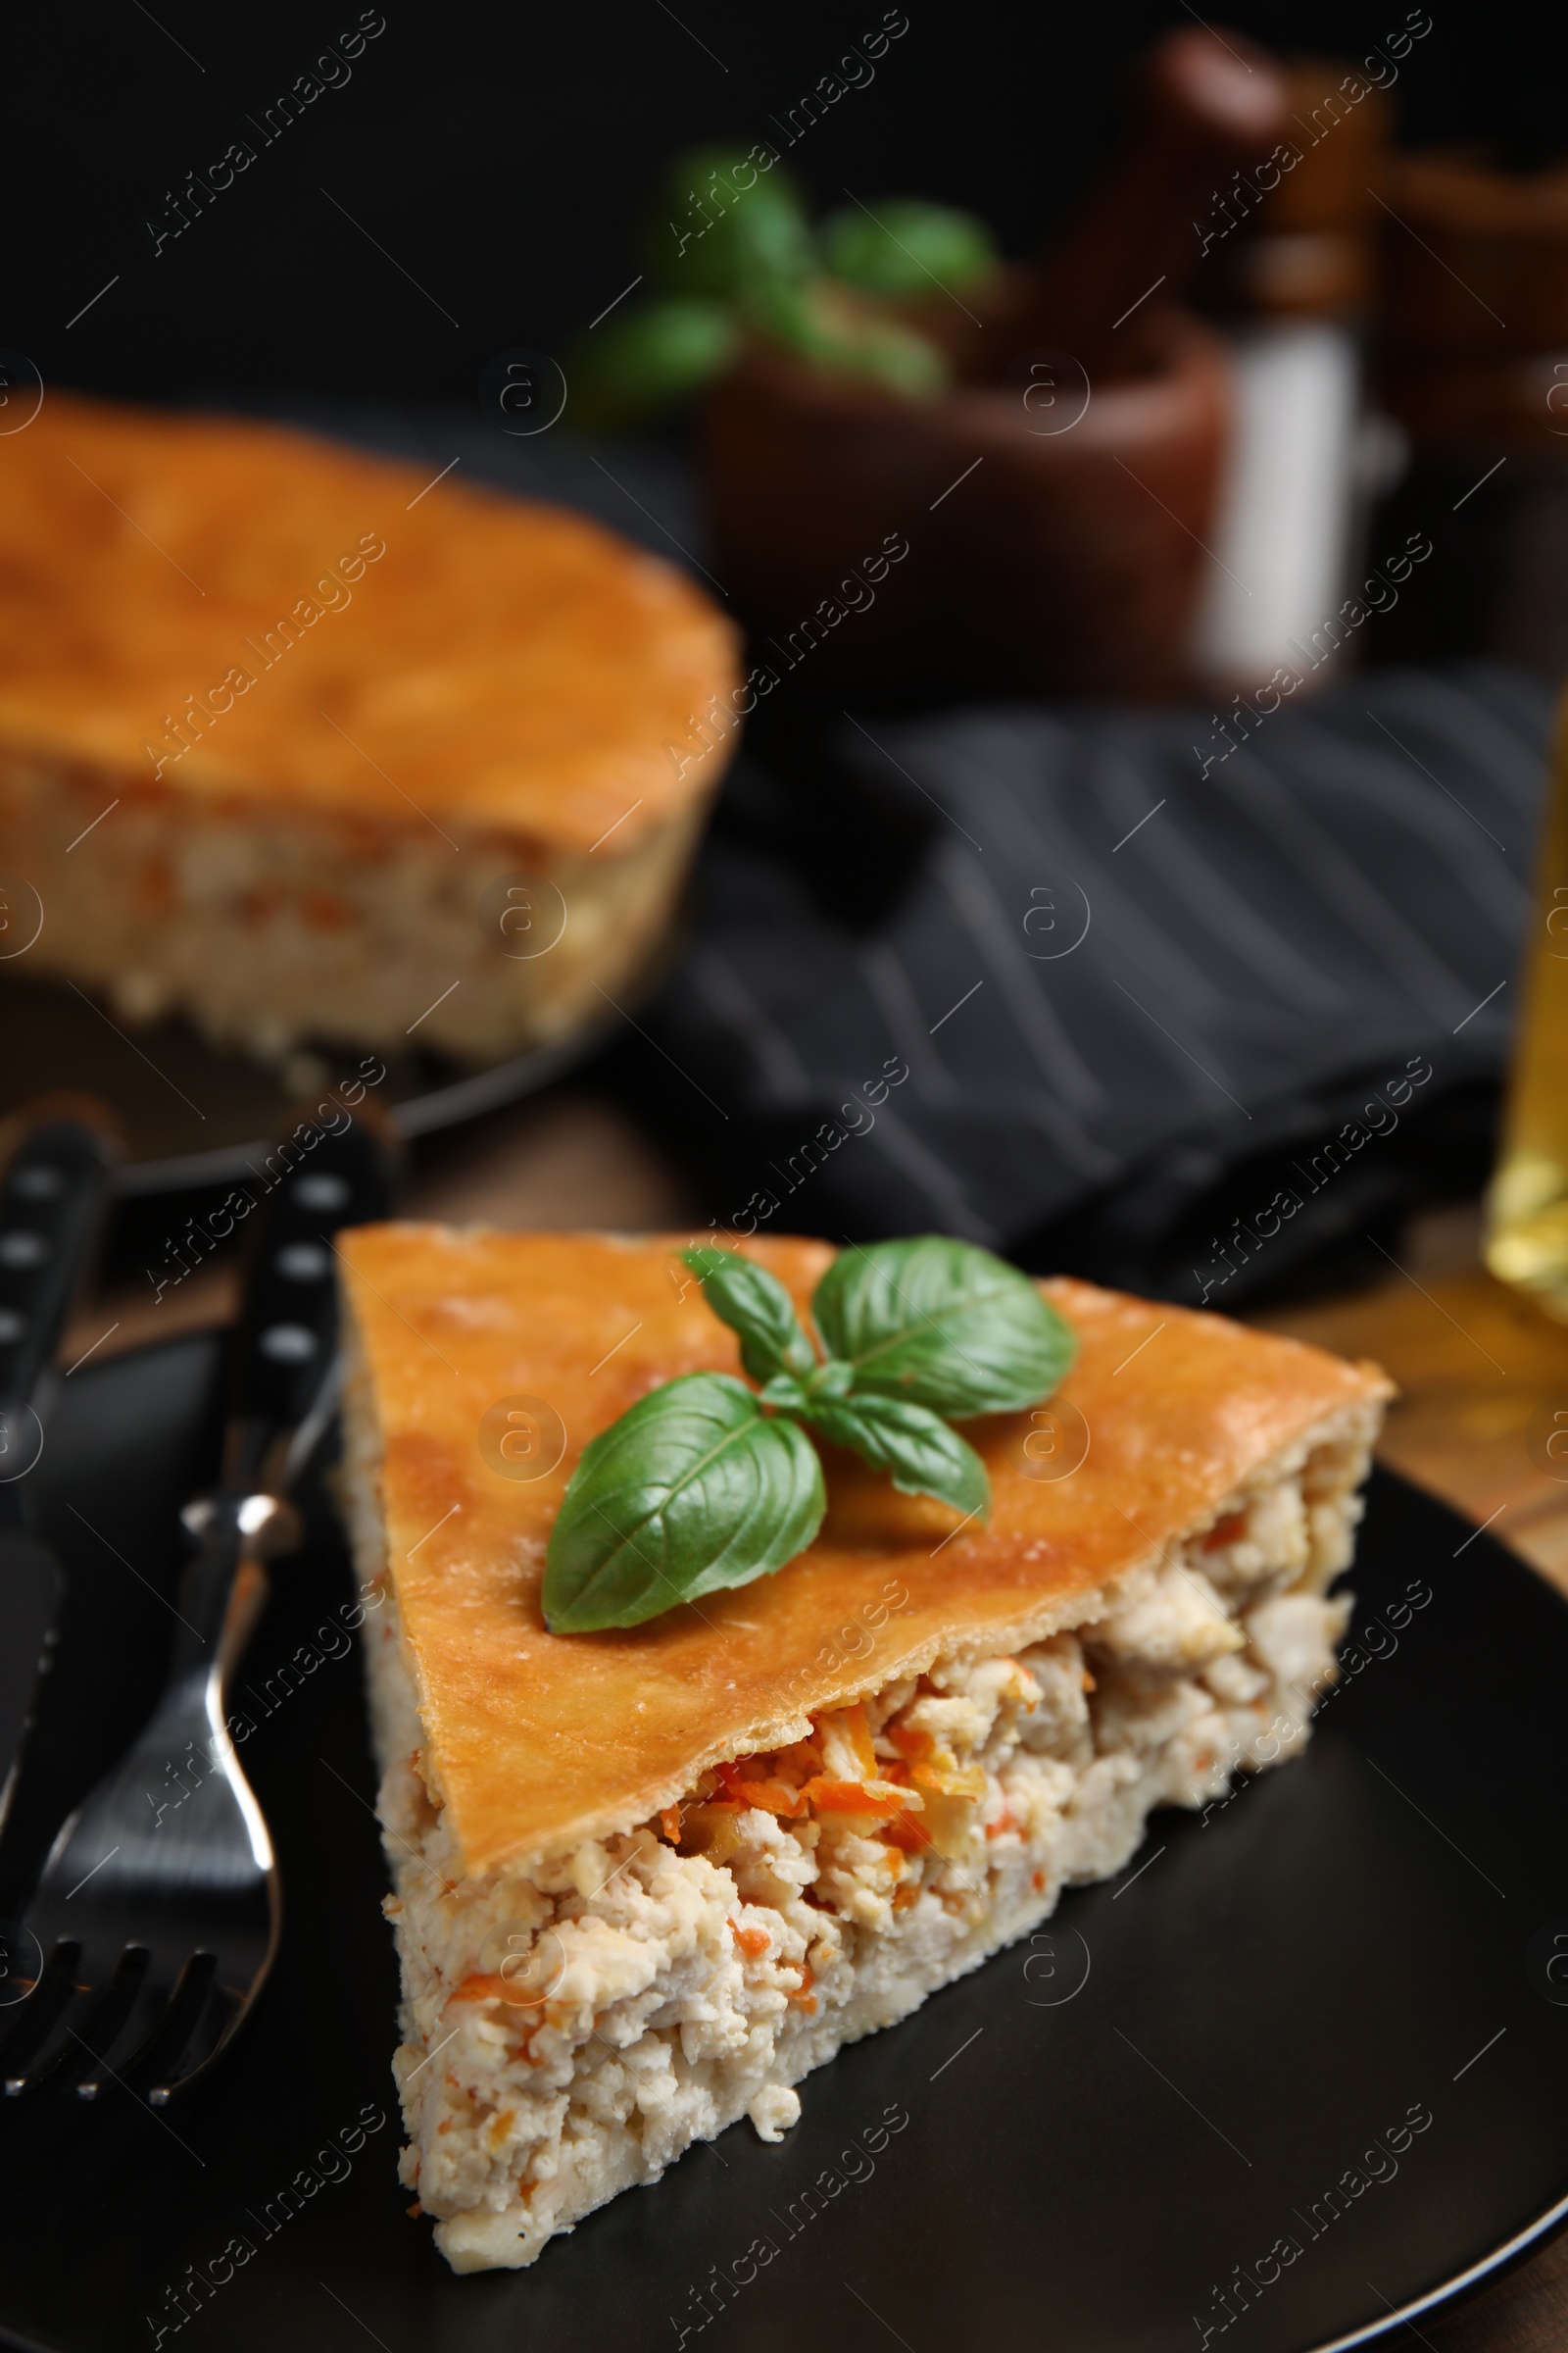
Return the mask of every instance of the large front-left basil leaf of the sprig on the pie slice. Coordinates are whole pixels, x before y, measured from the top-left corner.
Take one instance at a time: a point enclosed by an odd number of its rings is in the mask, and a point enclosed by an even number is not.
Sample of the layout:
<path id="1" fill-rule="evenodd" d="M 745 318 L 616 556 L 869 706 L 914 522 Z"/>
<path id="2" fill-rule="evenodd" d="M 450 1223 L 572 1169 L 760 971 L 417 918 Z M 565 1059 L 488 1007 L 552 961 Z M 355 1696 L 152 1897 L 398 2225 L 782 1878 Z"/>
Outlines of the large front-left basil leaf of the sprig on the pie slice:
<path id="1" fill-rule="evenodd" d="M 724 1372 L 639 1398 L 583 1447 L 545 1560 L 550 1633 L 639 1626 L 677 1602 L 769 1577 L 816 1537 L 816 1447 Z"/>

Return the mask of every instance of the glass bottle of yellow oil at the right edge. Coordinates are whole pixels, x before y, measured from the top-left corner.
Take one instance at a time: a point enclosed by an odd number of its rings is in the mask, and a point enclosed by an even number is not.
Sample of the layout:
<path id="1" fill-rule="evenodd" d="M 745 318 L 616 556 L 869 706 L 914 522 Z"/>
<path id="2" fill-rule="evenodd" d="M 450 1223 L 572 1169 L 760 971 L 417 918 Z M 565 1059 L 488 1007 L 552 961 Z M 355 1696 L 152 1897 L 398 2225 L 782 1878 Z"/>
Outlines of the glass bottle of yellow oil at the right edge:
<path id="1" fill-rule="evenodd" d="M 1486 1264 L 1568 1322 L 1568 699 L 1535 873 Z"/>

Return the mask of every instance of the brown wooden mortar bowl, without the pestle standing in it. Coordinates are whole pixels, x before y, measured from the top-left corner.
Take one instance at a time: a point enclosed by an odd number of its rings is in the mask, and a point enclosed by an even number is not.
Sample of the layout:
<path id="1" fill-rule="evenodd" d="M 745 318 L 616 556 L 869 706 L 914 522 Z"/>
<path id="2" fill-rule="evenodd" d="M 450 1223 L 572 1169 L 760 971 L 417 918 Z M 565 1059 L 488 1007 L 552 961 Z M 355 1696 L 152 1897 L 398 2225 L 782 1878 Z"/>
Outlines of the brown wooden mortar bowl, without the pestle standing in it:
<path id="1" fill-rule="evenodd" d="M 1058 433 L 1032 431 L 1023 384 L 912 405 L 755 353 L 708 407 L 705 454 L 715 569 L 757 659 L 813 696 L 1171 694 L 1229 360 L 1175 304 L 1143 351 Z M 1065 414 L 1081 386 L 1058 369 Z"/>

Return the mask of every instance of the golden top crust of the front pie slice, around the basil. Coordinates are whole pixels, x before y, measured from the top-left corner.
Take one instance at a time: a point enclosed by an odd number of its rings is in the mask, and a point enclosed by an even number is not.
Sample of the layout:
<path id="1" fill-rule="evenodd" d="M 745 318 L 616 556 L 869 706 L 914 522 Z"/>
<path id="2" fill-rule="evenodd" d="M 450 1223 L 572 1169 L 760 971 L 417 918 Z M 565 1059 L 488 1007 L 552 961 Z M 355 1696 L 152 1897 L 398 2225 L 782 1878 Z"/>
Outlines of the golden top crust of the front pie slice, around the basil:
<path id="1" fill-rule="evenodd" d="M 343 1238 L 355 1414 L 381 1445 L 421 1772 L 468 1873 L 630 1828 L 710 1762 L 797 1739 L 809 1713 L 938 1654 L 1072 1624 L 1074 1598 L 1208 1527 L 1345 1407 L 1392 1393 L 1371 1365 L 1053 1280 L 1079 1358 L 1048 1419 L 966 1426 L 992 1475 L 987 1525 L 825 1449 L 827 1520 L 776 1577 L 637 1628 L 550 1635 L 545 1544 L 583 1445 L 675 1374 L 741 1369 L 679 1247 L 407 1224 Z M 802 1308 L 832 1259 L 809 1240 L 743 1249 Z M 484 1414 L 517 1398 L 564 1426 L 559 1464 L 531 1480 L 480 1447 Z M 1070 1475 L 1034 1475 L 1079 1452 Z"/>

